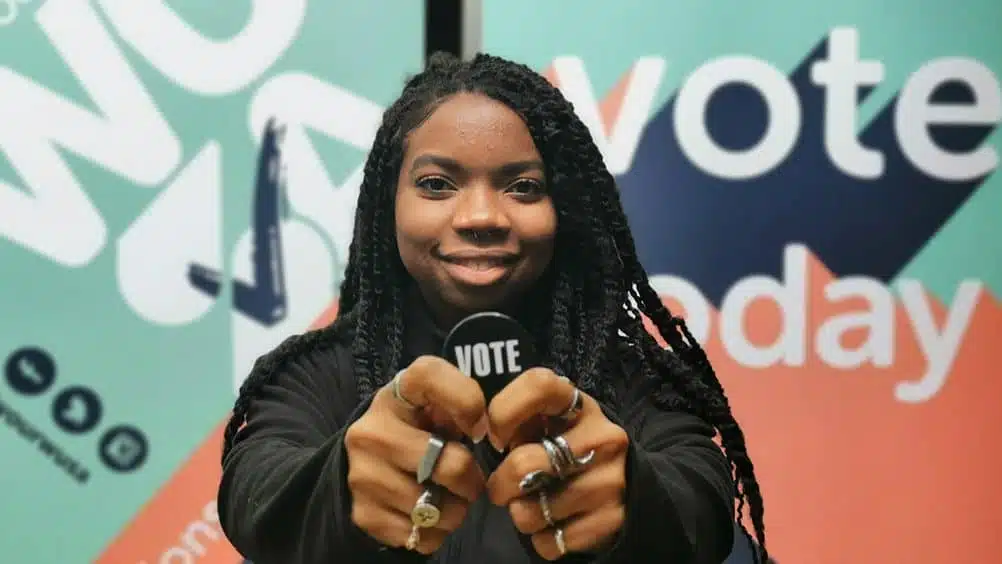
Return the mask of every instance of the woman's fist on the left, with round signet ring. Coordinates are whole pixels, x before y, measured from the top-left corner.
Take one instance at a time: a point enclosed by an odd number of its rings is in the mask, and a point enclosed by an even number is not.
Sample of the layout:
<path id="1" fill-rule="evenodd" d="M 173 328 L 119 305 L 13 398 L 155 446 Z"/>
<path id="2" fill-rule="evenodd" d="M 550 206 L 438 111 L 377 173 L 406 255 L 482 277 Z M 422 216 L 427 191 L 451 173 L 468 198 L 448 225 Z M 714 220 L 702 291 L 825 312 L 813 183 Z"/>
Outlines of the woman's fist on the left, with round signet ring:
<path id="1" fill-rule="evenodd" d="M 473 455 L 449 439 L 483 439 L 484 395 L 476 381 L 434 357 L 414 361 L 398 378 L 399 397 L 393 383 L 381 389 L 345 434 L 352 521 L 386 546 L 431 554 L 483 491 L 485 478 Z M 434 503 L 438 523 L 419 530 L 411 512 L 427 486 L 418 484 L 417 473 L 431 431 L 446 441 L 430 478 L 444 490 L 435 488 L 441 494 Z"/>

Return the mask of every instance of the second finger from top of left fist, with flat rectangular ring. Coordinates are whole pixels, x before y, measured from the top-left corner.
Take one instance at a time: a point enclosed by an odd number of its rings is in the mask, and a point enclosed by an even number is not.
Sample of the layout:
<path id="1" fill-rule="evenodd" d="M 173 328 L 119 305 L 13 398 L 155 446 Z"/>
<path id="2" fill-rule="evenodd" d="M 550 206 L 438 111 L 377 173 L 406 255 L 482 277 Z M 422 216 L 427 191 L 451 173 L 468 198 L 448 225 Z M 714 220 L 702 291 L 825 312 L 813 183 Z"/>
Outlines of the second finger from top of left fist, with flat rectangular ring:
<path id="1" fill-rule="evenodd" d="M 418 465 L 428 450 L 430 439 L 431 434 L 427 431 L 386 417 L 354 425 L 345 437 L 345 444 L 352 458 L 359 453 L 368 453 L 388 462 L 416 482 Z M 431 480 L 470 502 L 480 497 L 486 483 L 477 459 L 455 441 L 447 441 L 442 447 Z"/>

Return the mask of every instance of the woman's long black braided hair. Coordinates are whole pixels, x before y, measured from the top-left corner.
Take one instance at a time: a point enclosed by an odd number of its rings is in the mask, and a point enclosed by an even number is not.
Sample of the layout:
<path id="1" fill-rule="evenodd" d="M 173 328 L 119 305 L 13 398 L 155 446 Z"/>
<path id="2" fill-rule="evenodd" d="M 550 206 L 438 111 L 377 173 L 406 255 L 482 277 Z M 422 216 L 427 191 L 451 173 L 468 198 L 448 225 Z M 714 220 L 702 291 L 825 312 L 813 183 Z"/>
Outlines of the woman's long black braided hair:
<path id="1" fill-rule="evenodd" d="M 582 391 L 615 402 L 613 379 L 626 364 L 651 386 L 658 405 L 712 425 L 735 478 L 738 525 L 750 539 L 741 523 L 746 504 L 760 558 L 768 560 L 762 493 L 723 388 L 684 322 L 650 287 L 615 180 L 589 131 L 560 91 L 525 65 L 486 54 L 464 62 L 439 53 L 425 71 L 407 81 L 400 98 L 386 110 L 366 161 L 338 319 L 330 328 L 293 338 L 280 349 L 308 349 L 350 333 L 362 398 L 402 368 L 403 289 L 410 275 L 396 244 L 397 178 L 407 134 L 459 92 L 489 96 L 519 113 L 546 166 L 557 234 L 553 260 L 536 292 L 537 299 L 545 297 L 548 304 L 533 309 L 544 314 L 529 322 L 541 341 L 546 365 L 570 376 Z M 644 318 L 667 349 L 648 333 Z M 267 356 L 259 364 L 275 358 Z M 256 367 L 241 387 L 225 429 L 223 460 L 249 403 L 277 368 Z"/>

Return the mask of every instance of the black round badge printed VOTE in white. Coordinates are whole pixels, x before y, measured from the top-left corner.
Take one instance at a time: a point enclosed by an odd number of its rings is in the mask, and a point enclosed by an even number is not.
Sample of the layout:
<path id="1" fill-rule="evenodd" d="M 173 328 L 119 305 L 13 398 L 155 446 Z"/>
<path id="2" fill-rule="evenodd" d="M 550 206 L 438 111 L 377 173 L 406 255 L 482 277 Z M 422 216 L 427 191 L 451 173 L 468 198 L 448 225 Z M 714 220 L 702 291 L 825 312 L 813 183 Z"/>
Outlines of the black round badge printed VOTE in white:
<path id="1" fill-rule="evenodd" d="M 456 324 L 445 338 L 442 357 L 476 380 L 488 403 L 539 363 L 529 332 L 498 312 L 473 314 Z"/>

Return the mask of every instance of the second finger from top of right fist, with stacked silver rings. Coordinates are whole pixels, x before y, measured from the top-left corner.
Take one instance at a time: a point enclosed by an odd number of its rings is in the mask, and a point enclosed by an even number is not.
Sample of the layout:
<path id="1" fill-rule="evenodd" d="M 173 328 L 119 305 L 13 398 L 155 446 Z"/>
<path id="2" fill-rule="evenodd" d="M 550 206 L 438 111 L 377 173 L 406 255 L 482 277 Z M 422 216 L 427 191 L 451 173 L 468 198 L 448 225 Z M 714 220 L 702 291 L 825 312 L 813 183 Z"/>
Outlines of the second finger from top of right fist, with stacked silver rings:
<path id="1" fill-rule="evenodd" d="M 629 445 L 626 432 L 605 419 L 600 412 L 598 415 L 582 416 L 577 425 L 563 434 L 563 438 L 574 458 L 580 459 L 594 451 L 591 462 L 583 472 L 612 460 L 625 452 Z M 511 500 L 520 497 L 523 494 L 520 482 L 530 472 L 536 471 L 556 474 L 540 443 L 528 443 L 512 449 L 487 480 L 491 503 L 507 506 Z"/>

